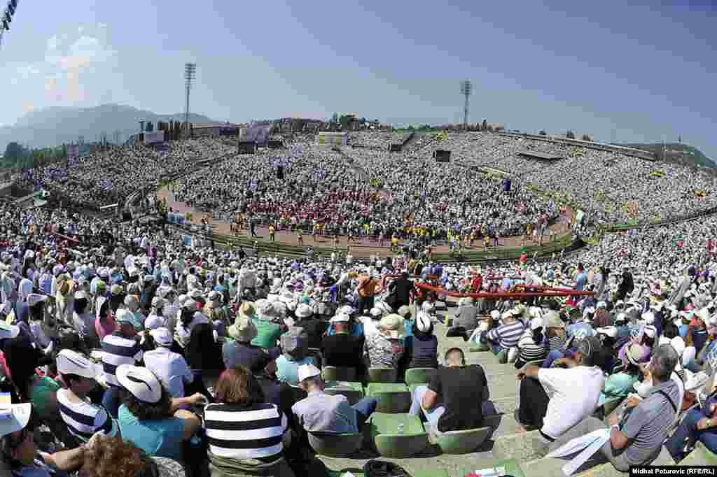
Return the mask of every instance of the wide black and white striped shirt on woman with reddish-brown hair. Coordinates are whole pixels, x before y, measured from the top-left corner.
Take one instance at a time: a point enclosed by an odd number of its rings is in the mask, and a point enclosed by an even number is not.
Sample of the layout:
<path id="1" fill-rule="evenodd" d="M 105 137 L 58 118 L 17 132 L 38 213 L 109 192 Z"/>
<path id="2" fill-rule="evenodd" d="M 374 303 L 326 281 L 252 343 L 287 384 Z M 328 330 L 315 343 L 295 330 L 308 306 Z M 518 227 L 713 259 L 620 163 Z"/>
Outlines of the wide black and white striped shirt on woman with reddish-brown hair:
<path id="1" fill-rule="evenodd" d="M 210 404 L 204 408 L 204 424 L 214 456 L 267 463 L 282 458 L 288 421 L 276 405 Z"/>

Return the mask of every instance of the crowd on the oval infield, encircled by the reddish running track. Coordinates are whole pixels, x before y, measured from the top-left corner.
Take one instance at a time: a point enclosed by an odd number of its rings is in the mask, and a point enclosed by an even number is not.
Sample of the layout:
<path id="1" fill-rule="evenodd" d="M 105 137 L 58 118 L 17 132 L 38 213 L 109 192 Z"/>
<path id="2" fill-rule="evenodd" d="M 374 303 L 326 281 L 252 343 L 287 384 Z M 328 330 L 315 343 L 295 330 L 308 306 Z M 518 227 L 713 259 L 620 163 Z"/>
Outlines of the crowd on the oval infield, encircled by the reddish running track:
<path id="1" fill-rule="evenodd" d="M 276 178 L 278 165 L 283 180 Z M 502 180 L 476 180 L 460 165 L 374 150 L 344 155 L 309 143 L 229 158 L 186 175 L 172 189 L 176 200 L 201 211 L 309 233 L 513 236 L 559 216 L 556 203 L 538 193 L 518 186 L 505 191 Z"/>

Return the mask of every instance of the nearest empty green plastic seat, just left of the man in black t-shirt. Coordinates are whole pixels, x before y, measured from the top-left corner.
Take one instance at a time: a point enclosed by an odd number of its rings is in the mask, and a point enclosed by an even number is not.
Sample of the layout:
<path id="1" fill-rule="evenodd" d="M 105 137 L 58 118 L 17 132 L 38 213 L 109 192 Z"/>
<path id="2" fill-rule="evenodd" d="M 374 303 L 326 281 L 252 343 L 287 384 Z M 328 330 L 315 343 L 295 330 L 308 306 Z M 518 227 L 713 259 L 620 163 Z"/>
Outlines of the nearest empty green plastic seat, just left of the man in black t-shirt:
<path id="1" fill-rule="evenodd" d="M 399 433 L 400 425 L 403 433 Z M 411 457 L 428 445 L 428 434 L 417 415 L 373 413 L 370 430 L 371 440 L 383 457 Z"/>

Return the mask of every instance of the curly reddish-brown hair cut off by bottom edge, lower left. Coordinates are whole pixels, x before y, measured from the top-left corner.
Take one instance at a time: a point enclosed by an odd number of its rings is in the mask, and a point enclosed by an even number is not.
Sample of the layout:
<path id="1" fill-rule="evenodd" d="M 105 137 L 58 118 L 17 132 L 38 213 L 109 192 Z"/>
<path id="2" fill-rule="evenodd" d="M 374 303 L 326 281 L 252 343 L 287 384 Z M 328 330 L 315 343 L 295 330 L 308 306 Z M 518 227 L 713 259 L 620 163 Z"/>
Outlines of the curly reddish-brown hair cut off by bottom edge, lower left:
<path id="1" fill-rule="evenodd" d="M 151 476 L 153 463 L 141 449 L 121 437 L 98 435 L 85 449 L 81 476 L 141 477 Z"/>

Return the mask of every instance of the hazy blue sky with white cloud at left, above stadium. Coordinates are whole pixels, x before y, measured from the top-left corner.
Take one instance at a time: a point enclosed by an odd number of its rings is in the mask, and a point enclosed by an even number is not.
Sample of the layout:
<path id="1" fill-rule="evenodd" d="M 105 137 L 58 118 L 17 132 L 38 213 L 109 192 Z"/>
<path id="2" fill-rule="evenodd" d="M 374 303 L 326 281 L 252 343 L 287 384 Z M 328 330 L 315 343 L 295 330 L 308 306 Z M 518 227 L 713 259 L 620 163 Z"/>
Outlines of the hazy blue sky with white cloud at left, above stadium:
<path id="1" fill-rule="evenodd" d="M 6 0 L 0 0 L 3 4 Z M 214 120 L 470 122 L 677 142 L 717 160 L 717 2 L 20 0 L 0 125 L 119 103 Z"/>

